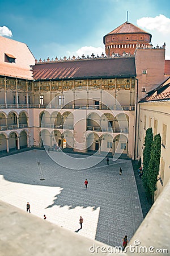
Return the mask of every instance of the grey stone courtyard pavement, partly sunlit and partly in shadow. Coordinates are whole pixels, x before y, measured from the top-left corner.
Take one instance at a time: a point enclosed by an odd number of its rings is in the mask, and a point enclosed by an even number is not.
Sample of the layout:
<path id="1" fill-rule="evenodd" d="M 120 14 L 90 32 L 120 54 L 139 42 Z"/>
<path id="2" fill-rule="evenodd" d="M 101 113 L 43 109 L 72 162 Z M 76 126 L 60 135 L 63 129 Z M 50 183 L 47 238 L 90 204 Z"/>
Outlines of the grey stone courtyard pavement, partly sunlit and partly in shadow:
<path id="1" fill-rule="evenodd" d="M 82 155 L 69 155 L 79 158 L 81 165 Z M 110 158 L 107 166 L 102 159 L 95 167 L 71 170 L 42 150 L 5 156 L 0 162 L 0 198 L 23 210 L 29 202 L 31 214 L 45 214 L 46 221 L 79 235 L 121 246 L 125 234 L 130 240 L 143 220 L 141 203 L 131 161 Z M 84 221 L 78 231 L 80 216 Z"/>

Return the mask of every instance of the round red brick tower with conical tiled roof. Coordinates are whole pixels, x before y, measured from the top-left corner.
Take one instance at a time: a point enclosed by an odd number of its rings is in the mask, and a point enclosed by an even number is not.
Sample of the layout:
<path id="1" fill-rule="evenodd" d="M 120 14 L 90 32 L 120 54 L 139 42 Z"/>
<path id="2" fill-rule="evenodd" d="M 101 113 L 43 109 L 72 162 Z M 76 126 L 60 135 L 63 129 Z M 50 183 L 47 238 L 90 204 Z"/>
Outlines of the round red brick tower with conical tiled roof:
<path id="1" fill-rule="evenodd" d="M 135 48 L 150 46 L 151 37 L 151 34 L 127 21 L 104 36 L 105 54 L 108 57 L 133 55 Z"/>

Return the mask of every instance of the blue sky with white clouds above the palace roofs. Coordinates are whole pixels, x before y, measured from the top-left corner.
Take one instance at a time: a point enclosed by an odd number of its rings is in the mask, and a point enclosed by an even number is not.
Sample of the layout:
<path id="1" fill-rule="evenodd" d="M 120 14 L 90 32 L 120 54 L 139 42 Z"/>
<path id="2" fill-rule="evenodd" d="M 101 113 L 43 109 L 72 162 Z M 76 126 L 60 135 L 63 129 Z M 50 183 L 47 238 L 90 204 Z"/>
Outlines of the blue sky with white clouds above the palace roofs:
<path id="1" fill-rule="evenodd" d="M 37 59 L 104 51 L 103 36 L 126 21 L 166 43 L 170 59 L 169 0 L 0 0 L 0 35 L 26 43 Z"/>

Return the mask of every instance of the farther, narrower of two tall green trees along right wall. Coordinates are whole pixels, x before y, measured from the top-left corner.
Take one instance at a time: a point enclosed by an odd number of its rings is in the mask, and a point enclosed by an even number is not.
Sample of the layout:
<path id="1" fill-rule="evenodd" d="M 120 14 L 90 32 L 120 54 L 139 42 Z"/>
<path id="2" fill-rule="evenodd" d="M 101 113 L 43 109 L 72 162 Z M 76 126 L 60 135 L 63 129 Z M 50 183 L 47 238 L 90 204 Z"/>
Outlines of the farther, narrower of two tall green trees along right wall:
<path id="1" fill-rule="evenodd" d="M 146 130 L 145 143 L 143 144 L 145 148 L 143 150 L 143 176 L 142 176 L 143 185 L 145 187 L 147 194 L 150 193 L 148 190 L 148 164 L 151 158 L 152 142 L 153 142 L 152 128 L 148 128 Z"/>

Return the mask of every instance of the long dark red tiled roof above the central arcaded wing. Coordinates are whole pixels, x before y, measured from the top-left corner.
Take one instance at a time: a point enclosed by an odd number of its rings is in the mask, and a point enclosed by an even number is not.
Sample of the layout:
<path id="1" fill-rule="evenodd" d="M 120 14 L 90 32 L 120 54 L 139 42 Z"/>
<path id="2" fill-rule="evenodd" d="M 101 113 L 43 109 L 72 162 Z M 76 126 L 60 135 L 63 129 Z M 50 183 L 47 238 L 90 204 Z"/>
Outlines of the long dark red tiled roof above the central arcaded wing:
<path id="1" fill-rule="evenodd" d="M 33 66 L 35 80 L 134 76 L 134 57 L 57 61 Z"/>

